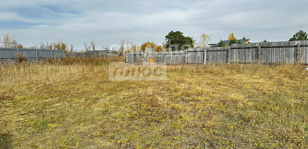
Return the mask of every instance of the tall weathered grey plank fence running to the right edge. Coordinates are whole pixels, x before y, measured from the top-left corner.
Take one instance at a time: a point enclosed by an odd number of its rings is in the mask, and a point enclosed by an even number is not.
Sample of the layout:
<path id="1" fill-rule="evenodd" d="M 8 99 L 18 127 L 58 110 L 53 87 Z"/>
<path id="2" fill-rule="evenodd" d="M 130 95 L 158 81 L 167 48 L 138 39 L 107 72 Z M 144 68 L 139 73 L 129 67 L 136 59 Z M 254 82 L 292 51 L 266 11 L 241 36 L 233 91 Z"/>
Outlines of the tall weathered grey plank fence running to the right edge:
<path id="1" fill-rule="evenodd" d="M 127 52 L 128 63 L 142 62 L 143 52 Z M 308 64 L 308 40 L 232 44 L 225 47 L 193 48 L 155 52 L 156 63 L 303 63 Z"/>

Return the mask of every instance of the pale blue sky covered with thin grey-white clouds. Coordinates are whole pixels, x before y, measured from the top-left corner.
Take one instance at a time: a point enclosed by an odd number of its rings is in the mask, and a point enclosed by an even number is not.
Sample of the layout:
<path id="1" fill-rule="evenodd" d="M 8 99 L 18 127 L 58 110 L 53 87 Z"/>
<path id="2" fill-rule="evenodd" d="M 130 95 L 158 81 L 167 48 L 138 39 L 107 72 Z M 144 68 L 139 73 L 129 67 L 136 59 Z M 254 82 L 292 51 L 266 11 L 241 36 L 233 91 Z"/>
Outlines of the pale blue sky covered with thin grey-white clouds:
<path id="1" fill-rule="evenodd" d="M 288 41 L 298 30 L 308 31 L 306 0 L 1 0 L 0 6 L 0 34 L 13 34 L 24 45 L 161 44 L 171 30 L 197 42 L 202 33 L 217 43 L 231 32 L 250 42 Z"/>

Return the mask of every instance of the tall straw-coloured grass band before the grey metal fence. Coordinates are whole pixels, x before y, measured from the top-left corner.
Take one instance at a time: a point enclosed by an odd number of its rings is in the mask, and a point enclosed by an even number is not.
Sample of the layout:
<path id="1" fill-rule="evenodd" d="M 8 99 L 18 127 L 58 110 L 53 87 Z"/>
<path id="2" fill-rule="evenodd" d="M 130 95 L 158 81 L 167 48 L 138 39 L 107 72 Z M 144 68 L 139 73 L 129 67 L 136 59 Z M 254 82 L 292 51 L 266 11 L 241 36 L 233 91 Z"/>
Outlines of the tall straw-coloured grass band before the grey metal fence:
<path id="1" fill-rule="evenodd" d="M 49 58 L 46 61 L 33 63 L 2 63 L 0 64 L 0 78 L 3 81 L 2 87 L 4 88 L 25 87 L 26 84 L 37 84 L 39 82 L 74 81 L 80 78 L 94 77 L 97 75 L 96 73 L 107 76 L 108 63 L 122 61 L 122 57 L 105 59 L 65 57 L 59 60 Z"/>

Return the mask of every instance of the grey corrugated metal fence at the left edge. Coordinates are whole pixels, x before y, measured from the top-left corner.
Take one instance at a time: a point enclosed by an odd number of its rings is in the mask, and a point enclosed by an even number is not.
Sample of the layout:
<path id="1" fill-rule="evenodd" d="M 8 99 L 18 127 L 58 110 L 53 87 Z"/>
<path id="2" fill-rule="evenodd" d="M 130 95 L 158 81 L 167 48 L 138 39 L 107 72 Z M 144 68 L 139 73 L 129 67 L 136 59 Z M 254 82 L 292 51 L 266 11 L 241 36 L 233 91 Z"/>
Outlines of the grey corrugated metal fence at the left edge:
<path id="1" fill-rule="evenodd" d="M 0 47 L 0 62 L 11 62 L 17 59 L 17 53 L 24 54 L 28 62 L 40 61 L 46 58 L 63 57 L 63 50 L 45 50 L 45 49 L 19 49 Z"/>

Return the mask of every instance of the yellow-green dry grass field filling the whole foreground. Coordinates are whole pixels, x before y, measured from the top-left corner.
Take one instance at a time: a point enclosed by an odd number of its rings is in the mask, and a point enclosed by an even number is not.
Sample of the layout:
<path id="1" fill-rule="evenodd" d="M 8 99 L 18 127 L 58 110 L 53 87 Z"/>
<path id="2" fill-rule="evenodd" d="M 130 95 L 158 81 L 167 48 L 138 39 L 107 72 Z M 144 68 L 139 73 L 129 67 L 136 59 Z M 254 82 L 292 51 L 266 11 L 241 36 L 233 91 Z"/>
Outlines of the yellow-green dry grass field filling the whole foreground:
<path id="1" fill-rule="evenodd" d="M 0 148 L 308 148 L 308 71 L 170 65 L 110 81 L 123 58 L 0 64 Z"/>

